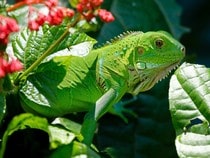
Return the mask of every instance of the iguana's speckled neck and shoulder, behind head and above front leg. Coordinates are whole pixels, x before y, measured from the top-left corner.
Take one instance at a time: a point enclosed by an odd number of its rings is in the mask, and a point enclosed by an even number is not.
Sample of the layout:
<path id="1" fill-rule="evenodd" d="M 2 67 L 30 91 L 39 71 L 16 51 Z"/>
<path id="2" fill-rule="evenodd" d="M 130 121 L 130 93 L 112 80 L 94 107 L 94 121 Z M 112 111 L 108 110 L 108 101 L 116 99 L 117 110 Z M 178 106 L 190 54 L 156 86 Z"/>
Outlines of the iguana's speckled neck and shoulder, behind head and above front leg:
<path id="1" fill-rule="evenodd" d="M 132 41 L 130 42 L 132 43 Z M 129 56 L 132 53 L 132 49 L 133 45 L 124 45 L 123 48 L 107 45 L 97 49 L 100 53 L 98 53 L 96 65 L 96 78 L 98 85 L 104 92 L 111 87 L 127 92 Z"/>

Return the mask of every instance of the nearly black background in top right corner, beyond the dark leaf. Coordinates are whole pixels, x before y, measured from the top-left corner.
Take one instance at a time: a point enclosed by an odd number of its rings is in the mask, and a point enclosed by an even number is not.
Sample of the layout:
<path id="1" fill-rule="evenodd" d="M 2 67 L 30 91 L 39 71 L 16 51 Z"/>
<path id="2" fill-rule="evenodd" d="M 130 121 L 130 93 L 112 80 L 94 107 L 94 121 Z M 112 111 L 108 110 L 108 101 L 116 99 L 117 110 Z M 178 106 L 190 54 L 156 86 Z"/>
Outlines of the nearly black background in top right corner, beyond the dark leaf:
<path id="1" fill-rule="evenodd" d="M 182 6 L 182 25 L 190 28 L 181 42 L 187 48 L 187 55 L 194 56 L 195 63 L 210 67 L 210 1 L 177 0 Z"/>

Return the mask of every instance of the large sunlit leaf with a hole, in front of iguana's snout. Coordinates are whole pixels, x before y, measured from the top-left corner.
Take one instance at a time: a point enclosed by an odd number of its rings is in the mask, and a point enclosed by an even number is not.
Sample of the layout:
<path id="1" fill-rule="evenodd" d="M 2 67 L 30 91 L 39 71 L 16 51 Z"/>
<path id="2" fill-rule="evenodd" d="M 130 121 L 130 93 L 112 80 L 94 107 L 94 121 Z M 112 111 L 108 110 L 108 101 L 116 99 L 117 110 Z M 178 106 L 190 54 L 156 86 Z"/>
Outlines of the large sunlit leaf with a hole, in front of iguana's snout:
<path id="1" fill-rule="evenodd" d="M 180 157 L 210 154 L 210 69 L 184 63 L 170 81 L 169 101 Z"/>

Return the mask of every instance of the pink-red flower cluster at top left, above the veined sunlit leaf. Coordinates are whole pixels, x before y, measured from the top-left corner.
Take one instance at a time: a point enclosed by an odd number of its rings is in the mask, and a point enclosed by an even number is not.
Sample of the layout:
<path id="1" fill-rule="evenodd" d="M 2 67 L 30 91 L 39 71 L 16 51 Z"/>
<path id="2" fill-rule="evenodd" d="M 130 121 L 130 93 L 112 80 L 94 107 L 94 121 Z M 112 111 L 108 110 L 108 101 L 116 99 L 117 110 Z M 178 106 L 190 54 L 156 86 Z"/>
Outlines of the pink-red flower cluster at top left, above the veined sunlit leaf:
<path id="1" fill-rule="evenodd" d="M 72 9 L 58 6 L 58 0 L 48 0 L 44 4 L 48 7 L 49 12 L 47 15 L 38 12 L 37 18 L 28 22 L 28 27 L 31 30 L 38 30 L 45 22 L 50 25 L 59 25 L 65 17 L 72 18 L 74 16 Z"/>

